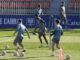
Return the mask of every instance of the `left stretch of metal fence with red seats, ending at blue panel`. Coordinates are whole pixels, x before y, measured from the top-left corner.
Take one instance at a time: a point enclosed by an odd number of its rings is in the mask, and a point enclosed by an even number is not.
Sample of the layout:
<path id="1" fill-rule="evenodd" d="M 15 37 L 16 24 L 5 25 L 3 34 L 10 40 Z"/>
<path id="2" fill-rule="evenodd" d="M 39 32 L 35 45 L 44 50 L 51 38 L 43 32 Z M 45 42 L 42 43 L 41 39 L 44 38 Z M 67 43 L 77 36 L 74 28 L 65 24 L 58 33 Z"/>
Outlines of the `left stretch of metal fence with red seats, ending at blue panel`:
<path id="1" fill-rule="evenodd" d="M 0 0 L 0 14 L 33 14 L 38 4 L 49 9 L 51 0 Z"/>

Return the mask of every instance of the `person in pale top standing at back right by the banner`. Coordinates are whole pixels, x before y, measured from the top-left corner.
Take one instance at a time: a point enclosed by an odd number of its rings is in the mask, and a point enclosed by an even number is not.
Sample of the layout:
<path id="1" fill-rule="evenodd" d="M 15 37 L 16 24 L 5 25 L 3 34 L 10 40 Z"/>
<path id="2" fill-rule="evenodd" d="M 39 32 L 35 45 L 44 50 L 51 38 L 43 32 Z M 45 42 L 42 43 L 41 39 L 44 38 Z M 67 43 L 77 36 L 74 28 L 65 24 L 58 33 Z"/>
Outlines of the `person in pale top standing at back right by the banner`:
<path id="1" fill-rule="evenodd" d="M 61 2 L 61 6 L 60 6 L 60 19 L 61 19 L 61 24 L 64 23 L 65 28 L 66 28 L 67 19 L 66 19 L 66 9 L 65 9 L 64 1 Z"/>

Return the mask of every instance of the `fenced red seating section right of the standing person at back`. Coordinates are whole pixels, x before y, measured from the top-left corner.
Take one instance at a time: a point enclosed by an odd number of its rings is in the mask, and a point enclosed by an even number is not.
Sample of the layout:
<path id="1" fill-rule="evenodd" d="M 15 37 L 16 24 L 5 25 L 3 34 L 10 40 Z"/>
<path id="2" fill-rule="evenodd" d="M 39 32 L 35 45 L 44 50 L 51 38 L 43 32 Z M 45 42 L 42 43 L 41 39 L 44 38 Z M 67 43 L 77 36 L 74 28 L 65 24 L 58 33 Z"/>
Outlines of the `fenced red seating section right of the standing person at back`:
<path id="1" fill-rule="evenodd" d="M 69 0 L 67 8 L 68 8 L 67 13 L 79 15 L 80 14 L 80 0 Z"/>

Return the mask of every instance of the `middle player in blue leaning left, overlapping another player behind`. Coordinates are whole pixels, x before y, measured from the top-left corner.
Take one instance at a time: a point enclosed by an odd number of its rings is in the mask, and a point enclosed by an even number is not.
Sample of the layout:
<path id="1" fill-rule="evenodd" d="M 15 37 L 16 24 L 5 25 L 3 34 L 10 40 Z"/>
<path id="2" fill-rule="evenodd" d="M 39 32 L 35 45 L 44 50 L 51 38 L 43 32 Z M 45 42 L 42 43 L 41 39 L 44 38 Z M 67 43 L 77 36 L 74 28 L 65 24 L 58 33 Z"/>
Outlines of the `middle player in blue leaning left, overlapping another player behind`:
<path id="1" fill-rule="evenodd" d="M 40 43 L 41 43 L 40 47 L 43 47 L 43 42 L 42 42 L 42 39 L 41 39 L 42 36 L 45 39 L 45 42 L 46 42 L 47 46 L 49 46 L 47 38 L 46 38 L 46 31 L 45 31 L 46 23 L 43 19 L 40 18 L 40 16 L 38 14 L 36 14 L 35 17 L 36 17 L 36 20 L 38 22 L 38 27 L 39 27 L 38 34 L 39 34 L 39 40 L 40 40 Z"/>

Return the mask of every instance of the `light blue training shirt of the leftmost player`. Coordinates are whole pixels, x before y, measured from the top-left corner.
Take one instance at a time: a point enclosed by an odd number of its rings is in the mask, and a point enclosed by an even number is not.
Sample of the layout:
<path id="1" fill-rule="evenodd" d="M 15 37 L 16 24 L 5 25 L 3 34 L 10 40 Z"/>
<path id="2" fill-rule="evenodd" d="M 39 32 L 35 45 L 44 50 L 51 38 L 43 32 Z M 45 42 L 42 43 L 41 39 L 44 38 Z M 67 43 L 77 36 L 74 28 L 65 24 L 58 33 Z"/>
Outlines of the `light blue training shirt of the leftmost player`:
<path id="1" fill-rule="evenodd" d="M 17 36 L 23 37 L 23 36 L 24 36 L 24 31 L 26 31 L 27 34 L 28 34 L 28 36 L 29 36 L 29 32 L 28 32 L 28 30 L 26 29 L 26 27 L 25 27 L 22 23 L 21 23 L 21 24 L 18 24 L 18 25 L 17 25 L 17 28 L 16 28 L 16 31 L 15 31 L 15 33 L 18 32 Z M 14 33 L 14 34 L 15 34 L 15 33 Z"/>

